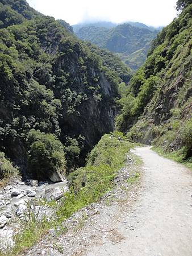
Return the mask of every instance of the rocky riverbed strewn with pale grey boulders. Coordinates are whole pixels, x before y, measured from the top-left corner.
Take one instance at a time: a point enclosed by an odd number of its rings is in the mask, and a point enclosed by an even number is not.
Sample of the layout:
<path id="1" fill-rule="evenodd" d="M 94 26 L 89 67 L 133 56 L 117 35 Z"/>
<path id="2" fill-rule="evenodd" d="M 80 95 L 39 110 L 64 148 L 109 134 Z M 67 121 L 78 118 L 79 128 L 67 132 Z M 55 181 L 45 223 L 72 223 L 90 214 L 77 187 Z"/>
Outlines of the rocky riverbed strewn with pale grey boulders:
<path id="1" fill-rule="evenodd" d="M 38 217 L 51 218 L 53 210 L 39 205 L 39 200 L 59 200 L 69 190 L 67 181 L 50 183 L 37 180 L 16 180 L 0 189 L 0 247 L 13 245 L 12 237 L 20 229 L 20 221 L 27 221 L 29 210 Z"/>

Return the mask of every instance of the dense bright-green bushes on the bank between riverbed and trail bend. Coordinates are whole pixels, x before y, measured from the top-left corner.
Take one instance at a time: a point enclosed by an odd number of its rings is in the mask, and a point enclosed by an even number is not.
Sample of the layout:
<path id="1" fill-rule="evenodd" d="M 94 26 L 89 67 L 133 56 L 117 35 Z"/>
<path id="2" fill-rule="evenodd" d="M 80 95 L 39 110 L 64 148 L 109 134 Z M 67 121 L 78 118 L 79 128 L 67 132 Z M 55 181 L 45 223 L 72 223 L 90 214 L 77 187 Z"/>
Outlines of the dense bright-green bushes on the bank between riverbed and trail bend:
<path id="1" fill-rule="evenodd" d="M 88 156 L 86 166 L 69 175 L 73 190 L 66 195 L 57 212 L 60 218 L 68 218 L 112 189 L 114 177 L 133 146 L 130 142 L 119 141 L 119 135 L 124 138 L 121 133 L 103 135 Z"/>

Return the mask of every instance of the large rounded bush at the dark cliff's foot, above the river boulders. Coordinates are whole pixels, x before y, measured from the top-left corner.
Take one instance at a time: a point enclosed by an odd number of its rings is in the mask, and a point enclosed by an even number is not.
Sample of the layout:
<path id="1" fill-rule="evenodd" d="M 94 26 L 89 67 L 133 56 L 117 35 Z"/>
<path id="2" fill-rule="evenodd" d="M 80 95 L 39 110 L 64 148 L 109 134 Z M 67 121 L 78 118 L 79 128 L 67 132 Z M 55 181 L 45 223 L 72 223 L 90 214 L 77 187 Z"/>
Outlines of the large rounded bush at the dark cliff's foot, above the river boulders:
<path id="1" fill-rule="evenodd" d="M 28 135 L 28 170 L 40 179 L 55 171 L 65 172 L 64 146 L 53 134 L 31 130 Z"/>

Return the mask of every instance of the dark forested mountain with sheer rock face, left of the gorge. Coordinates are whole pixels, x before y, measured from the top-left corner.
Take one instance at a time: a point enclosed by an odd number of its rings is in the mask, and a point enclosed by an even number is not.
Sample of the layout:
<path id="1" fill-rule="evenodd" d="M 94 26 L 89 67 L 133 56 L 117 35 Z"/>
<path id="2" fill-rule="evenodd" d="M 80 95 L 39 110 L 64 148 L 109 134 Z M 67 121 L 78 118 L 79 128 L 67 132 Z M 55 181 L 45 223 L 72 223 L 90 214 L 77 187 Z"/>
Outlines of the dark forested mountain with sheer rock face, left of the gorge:
<path id="1" fill-rule="evenodd" d="M 65 162 L 73 170 L 114 129 L 118 85 L 131 75 L 118 57 L 99 56 L 73 36 L 68 23 L 24 0 L 0 5 L 0 151 L 25 176 L 45 179 Z"/>

